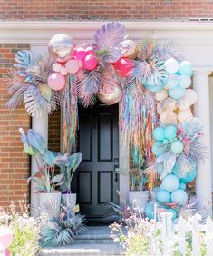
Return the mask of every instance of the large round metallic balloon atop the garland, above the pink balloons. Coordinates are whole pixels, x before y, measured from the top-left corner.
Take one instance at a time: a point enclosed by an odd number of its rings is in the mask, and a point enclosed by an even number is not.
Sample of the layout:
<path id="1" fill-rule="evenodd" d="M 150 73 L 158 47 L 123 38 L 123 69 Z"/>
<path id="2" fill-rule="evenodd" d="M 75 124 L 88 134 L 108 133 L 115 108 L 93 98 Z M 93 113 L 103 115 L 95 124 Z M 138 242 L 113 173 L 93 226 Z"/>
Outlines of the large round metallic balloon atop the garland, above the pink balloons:
<path id="1" fill-rule="evenodd" d="M 66 34 L 55 34 L 48 44 L 48 50 L 53 59 L 58 62 L 65 62 L 73 53 L 73 39 Z"/>

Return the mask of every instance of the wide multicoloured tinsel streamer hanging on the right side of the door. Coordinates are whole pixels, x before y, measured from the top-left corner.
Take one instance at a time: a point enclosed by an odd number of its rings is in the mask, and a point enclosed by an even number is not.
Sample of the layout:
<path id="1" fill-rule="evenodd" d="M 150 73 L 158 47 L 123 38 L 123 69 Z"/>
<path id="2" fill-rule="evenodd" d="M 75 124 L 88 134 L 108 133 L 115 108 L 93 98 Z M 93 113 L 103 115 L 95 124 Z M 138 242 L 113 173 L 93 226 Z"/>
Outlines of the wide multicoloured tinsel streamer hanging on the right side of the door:
<path id="1" fill-rule="evenodd" d="M 144 91 L 144 87 L 135 84 L 136 90 L 124 91 L 121 102 L 120 126 L 122 140 L 129 139 L 134 165 L 144 168 L 153 161 L 151 152 L 152 132 L 158 122 L 154 94 Z M 150 173 L 149 188 L 153 187 L 154 174 Z"/>

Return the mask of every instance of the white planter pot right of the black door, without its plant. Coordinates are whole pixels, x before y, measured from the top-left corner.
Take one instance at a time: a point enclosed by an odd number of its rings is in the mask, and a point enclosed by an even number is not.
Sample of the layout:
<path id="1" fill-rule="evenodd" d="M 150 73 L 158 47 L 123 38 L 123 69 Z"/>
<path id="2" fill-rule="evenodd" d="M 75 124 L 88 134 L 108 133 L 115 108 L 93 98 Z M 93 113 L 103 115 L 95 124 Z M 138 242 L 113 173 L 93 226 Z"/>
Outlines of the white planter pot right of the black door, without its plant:
<path id="1" fill-rule="evenodd" d="M 133 206 L 139 206 L 140 212 L 144 212 L 149 199 L 148 191 L 129 191 L 129 203 Z"/>

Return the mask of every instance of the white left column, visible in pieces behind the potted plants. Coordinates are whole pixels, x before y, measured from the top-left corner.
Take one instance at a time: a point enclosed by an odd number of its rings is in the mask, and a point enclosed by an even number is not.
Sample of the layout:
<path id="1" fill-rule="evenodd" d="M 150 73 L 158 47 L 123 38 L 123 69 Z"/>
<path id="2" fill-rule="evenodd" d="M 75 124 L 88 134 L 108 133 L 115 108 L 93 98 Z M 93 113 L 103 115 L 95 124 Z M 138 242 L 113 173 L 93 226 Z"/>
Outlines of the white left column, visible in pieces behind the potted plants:
<path id="1" fill-rule="evenodd" d="M 32 129 L 39 133 L 46 142 L 48 142 L 48 115 L 44 115 L 42 117 L 33 117 L 32 118 Z M 37 160 L 39 160 L 37 158 Z M 34 176 L 34 173 L 38 172 L 38 165 L 34 157 L 31 158 L 31 176 Z M 31 214 L 32 216 L 36 216 L 38 209 L 38 194 L 35 192 L 36 184 L 35 182 L 31 182 L 31 196 L 30 196 L 30 204 L 31 204 Z"/>

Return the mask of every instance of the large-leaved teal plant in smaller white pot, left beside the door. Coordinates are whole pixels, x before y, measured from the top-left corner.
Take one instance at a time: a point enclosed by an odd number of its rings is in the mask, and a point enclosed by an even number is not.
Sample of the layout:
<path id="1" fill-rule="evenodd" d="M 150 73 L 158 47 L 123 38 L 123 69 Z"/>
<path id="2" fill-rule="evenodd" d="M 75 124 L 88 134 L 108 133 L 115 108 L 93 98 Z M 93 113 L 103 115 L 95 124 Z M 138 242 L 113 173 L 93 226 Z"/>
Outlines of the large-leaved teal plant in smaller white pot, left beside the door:
<path id="1" fill-rule="evenodd" d="M 65 191 L 63 191 L 62 198 L 67 205 L 73 207 L 76 204 L 76 193 L 72 192 L 71 185 L 73 174 L 82 162 L 82 153 L 73 153 L 70 156 L 68 153 L 65 153 L 64 155 L 56 157 L 55 162 L 57 162 L 63 172 Z"/>

